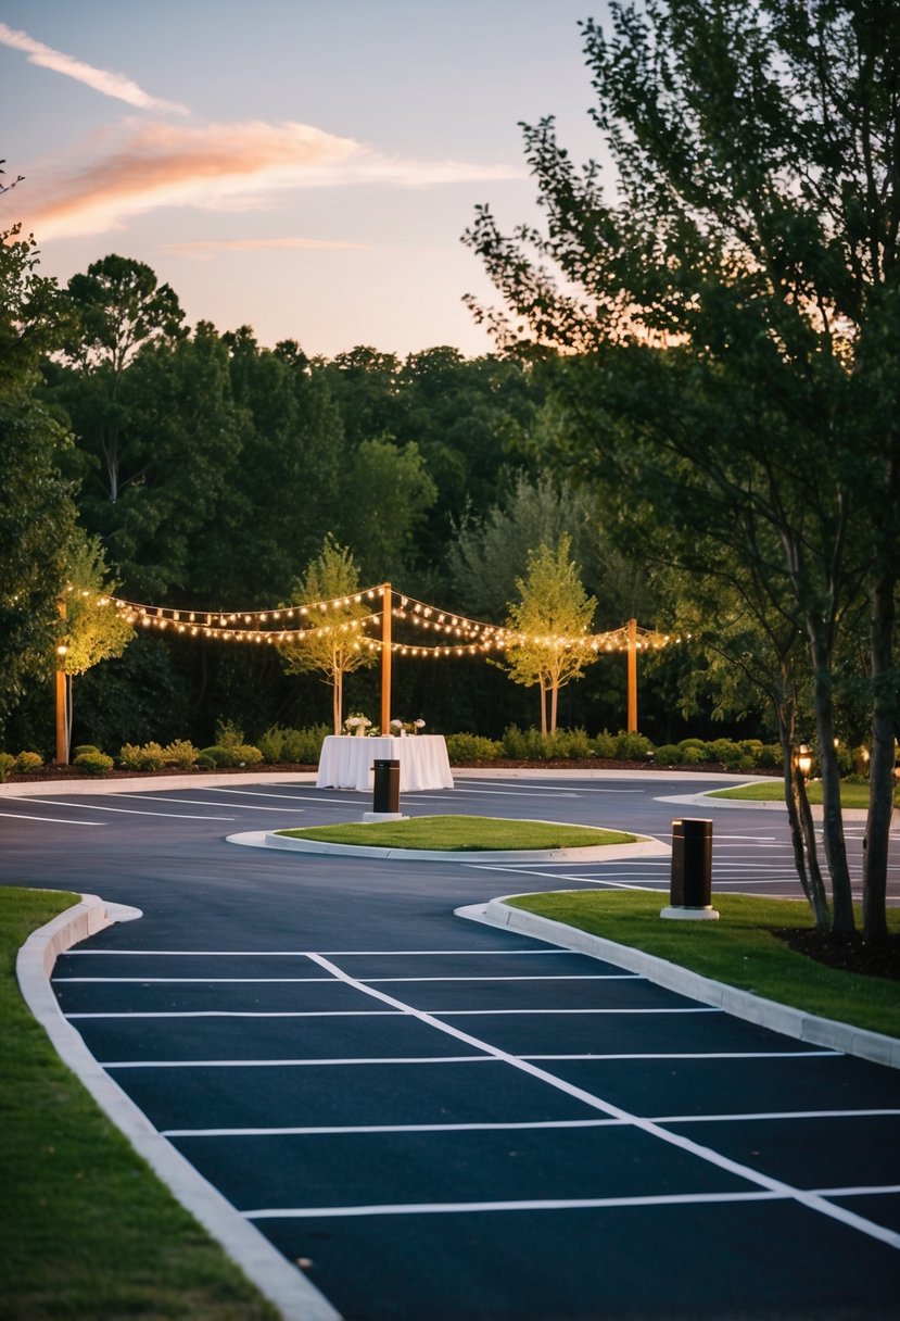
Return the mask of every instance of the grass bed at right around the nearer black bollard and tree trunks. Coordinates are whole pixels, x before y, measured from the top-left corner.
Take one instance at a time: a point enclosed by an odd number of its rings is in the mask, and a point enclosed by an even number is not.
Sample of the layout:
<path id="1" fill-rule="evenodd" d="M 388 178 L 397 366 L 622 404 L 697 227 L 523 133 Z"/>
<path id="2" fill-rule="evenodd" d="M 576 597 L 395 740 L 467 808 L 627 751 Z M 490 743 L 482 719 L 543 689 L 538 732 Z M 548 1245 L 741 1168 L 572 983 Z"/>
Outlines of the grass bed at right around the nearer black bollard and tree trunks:
<path id="1" fill-rule="evenodd" d="M 660 918 L 665 900 L 645 890 L 558 890 L 509 902 L 767 1000 L 900 1037 L 899 983 L 829 968 L 772 934 L 812 926 L 805 901 L 714 894 L 718 922 L 666 922 Z M 900 909 L 888 910 L 888 923 L 900 931 Z"/>

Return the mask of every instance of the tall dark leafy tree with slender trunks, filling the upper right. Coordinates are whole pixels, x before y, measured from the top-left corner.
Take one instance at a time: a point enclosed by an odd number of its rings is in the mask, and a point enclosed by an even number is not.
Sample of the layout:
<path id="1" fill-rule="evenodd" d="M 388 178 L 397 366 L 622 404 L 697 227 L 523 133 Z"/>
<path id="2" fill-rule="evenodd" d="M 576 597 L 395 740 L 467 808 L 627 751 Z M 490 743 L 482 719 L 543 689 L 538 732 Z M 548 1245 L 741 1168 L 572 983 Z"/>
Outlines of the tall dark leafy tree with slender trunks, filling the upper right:
<path id="1" fill-rule="evenodd" d="M 610 30 L 589 21 L 583 36 L 618 196 L 599 165 L 573 165 L 553 120 L 525 128 L 546 232 L 505 238 L 483 209 L 467 235 L 525 330 L 492 324 L 569 355 L 560 462 L 627 489 L 628 517 L 674 527 L 682 546 L 699 532 L 792 598 L 839 933 L 854 914 L 834 659 L 867 585 L 864 934 L 880 939 L 900 708 L 896 7 L 614 0 Z"/>

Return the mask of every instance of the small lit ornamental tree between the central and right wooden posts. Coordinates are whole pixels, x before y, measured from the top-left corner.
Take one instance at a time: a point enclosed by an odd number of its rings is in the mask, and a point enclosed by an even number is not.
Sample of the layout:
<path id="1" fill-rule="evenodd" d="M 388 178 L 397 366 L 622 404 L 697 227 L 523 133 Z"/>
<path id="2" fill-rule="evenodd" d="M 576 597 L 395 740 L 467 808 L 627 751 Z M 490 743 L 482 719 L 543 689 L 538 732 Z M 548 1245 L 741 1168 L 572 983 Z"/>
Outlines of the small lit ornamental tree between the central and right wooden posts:
<path id="1" fill-rule="evenodd" d="M 579 679 L 596 659 L 586 641 L 596 601 L 581 584 L 570 547 L 566 534 L 556 550 L 544 544 L 528 552 L 528 573 L 516 580 L 521 601 L 509 605 L 507 620 L 523 641 L 507 649 L 505 662 L 498 662 L 515 683 L 538 686 L 542 734 L 556 732 L 560 688 Z"/>

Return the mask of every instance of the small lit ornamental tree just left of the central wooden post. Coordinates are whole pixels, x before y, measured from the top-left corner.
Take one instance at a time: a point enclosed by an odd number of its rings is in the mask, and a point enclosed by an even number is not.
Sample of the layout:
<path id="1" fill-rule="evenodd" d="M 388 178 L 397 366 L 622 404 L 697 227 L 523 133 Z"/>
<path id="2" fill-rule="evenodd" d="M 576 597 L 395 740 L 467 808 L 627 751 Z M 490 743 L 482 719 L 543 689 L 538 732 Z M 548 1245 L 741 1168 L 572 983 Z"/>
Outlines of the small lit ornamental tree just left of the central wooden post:
<path id="1" fill-rule="evenodd" d="M 360 621 L 371 612 L 355 600 L 358 593 L 359 571 L 350 550 L 326 536 L 293 592 L 296 604 L 317 605 L 310 612 L 311 626 L 296 641 L 278 646 L 288 674 L 323 672 L 333 695 L 335 734 L 340 733 L 344 675 L 375 662 L 360 630 Z"/>

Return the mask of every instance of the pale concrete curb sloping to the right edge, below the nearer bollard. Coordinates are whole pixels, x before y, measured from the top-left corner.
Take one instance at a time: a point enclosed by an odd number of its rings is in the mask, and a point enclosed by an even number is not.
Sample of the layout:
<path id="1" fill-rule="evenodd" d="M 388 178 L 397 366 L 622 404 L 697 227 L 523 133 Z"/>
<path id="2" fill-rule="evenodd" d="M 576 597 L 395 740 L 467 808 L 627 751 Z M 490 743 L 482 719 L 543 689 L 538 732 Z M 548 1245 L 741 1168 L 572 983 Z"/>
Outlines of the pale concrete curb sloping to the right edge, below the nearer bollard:
<path id="1" fill-rule="evenodd" d="M 871 1059 L 874 1063 L 900 1069 L 900 1040 L 896 1037 L 885 1037 L 880 1032 L 866 1032 L 863 1028 L 854 1028 L 846 1022 L 820 1018 L 802 1009 L 792 1009 L 775 1000 L 764 1000 L 750 991 L 738 991 L 723 982 L 713 982 L 710 978 L 682 968 L 677 963 L 669 963 L 668 959 L 657 959 L 652 954 L 644 954 L 643 950 L 616 945 L 600 935 L 590 935 L 587 931 L 566 926 L 565 922 L 554 922 L 549 917 L 538 917 L 536 913 L 511 908 L 507 900 L 516 897 L 515 894 L 503 894 L 488 904 L 455 909 L 455 914 L 474 922 L 486 922 L 488 926 L 503 926 L 520 935 L 533 935 L 550 945 L 560 945 L 579 954 L 590 954 L 595 959 L 604 959 L 628 972 L 637 972 L 648 982 L 655 982 L 669 991 L 677 991 L 680 995 L 690 996 L 702 1004 L 715 1005 L 717 1009 L 732 1013 L 736 1018 L 746 1018 L 748 1022 L 771 1028 L 772 1032 L 780 1032 L 785 1037 L 796 1037 L 810 1045 L 842 1050 L 849 1055 L 859 1055 L 860 1059 Z"/>

